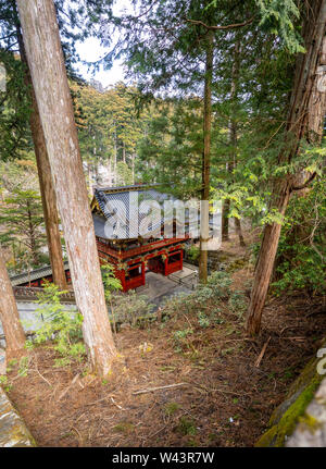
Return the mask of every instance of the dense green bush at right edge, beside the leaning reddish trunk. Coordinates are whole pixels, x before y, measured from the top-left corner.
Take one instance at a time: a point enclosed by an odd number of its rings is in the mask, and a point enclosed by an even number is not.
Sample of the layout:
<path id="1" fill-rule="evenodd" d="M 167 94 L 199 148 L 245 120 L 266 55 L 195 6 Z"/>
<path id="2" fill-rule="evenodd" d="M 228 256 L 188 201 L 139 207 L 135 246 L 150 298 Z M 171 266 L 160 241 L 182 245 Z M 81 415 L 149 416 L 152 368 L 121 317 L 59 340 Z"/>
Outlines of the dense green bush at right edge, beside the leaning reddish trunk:
<path id="1" fill-rule="evenodd" d="M 276 295 L 301 291 L 325 294 L 326 185 L 316 181 L 290 199 L 283 226 L 272 288 Z"/>

